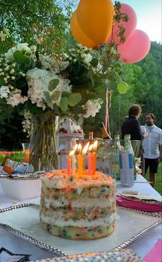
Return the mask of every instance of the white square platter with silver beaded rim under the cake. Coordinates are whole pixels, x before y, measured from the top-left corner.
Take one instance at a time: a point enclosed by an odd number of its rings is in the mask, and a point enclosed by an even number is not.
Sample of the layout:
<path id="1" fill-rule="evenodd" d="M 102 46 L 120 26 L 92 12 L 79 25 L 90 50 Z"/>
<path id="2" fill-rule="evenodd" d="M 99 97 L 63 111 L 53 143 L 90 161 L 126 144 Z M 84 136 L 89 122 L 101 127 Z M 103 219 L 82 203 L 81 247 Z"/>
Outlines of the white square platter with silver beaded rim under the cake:
<path id="1" fill-rule="evenodd" d="M 161 224 L 160 215 L 117 208 L 116 229 L 113 234 L 92 241 L 73 241 L 49 235 L 40 228 L 39 208 L 23 204 L 0 210 L 0 226 L 35 246 L 53 252 L 56 257 L 89 252 L 122 250 L 141 235 Z"/>

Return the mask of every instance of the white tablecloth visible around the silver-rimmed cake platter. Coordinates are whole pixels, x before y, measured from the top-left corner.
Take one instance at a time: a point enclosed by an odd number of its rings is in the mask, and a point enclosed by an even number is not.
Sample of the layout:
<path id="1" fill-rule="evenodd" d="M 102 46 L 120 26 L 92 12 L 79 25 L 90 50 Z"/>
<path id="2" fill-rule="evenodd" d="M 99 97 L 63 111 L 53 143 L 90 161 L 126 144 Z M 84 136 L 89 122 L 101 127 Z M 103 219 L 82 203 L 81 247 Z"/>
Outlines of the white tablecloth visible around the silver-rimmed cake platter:
<path id="1" fill-rule="evenodd" d="M 139 192 L 145 192 L 145 193 L 152 193 L 154 195 L 160 196 L 160 194 L 155 191 L 149 183 L 147 183 L 146 179 L 143 178 L 143 176 L 138 175 L 137 176 L 137 182 L 135 182 L 134 186 L 131 188 L 126 188 L 126 187 L 122 187 L 120 182 L 117 182 L 117 193 L 121 193 L 123 190 L 135 190 L 135 191 L 139 191 Z M 6 207 L 9 206 L 14 206 L 12 199 L 10 199 L 8 196 L 6 196 L 3 193 L 3 190 L 0 186 L 0 209 L 4 209 Z M 16 204 L 22 204 L 22 203 L 27 203 L 29 202 L 29 200 L 25 200 L 23 202 L 18 202 L 16 201 Z M 27 252 L 27 248 L 32 248 L 32 244 L 31 243 L 27 243 L 27 241 L 23 242 L 21 241 L 21 239 L 19 237 L 16 237 L 14 235 L 10 235 L 11 233 L 8 233 L 8 231 L 3 230 L 2 228 L 0 228 L 0 246 L 5 246 L 8 247 L 8 250 L 13 248 L 13 242 L 14 242 L 14 246 L 15 244 L 22 246 L 22 250 L 25 250 L 23 252 Z M 148 251 L 154 246 L 154 244 L 157 242 L 158 239 L 161 239 L 161 235 L 162 235 L 162 230 L 161 230 L 161 225 L 156 226 L 155 228 L 153 228 L 152 230 L 148 231 L 148 233 L 143 234 L 139 239 L 137 239 L 137 241 L 135 241 L 134 243 L 132 243 L 129 248 L 139 254 L 139 256 L 141 258 L 143 258 Z M 12 241 L 11 241 L 12 239 Z M 33 246 L 34 247 L 34 246 Z M 42 258 L 45 257 L 45 253 L 43 250 L 40 250 L 40 256 Z M 34 256 L 36 255 L 37 251 L 34 251 Z M 29 254 L 29 253 L 28 253 Z M 46 254 L 47 257 L 47 254 Z M 49 254 L 49 257 L 51 257 L 51 255 Z M 36 257 L 37 258 L 37 257 Z M 34 259 L 34 257 L 33 257 Z"/>

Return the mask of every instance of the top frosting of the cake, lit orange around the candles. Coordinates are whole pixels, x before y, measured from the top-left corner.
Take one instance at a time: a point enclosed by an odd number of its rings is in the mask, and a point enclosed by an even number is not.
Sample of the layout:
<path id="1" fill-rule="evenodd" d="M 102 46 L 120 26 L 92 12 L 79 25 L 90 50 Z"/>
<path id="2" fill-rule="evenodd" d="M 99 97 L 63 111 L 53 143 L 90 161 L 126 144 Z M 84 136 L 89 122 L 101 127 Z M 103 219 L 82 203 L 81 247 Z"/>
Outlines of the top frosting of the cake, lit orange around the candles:
<path id="1" fill-rule="evenodd" d="M 82 193 L 84 187 L 101 187 L 115 185 L 115 180 L 110 176 L 106 176 L 99 171 L 95 171 L 94 176 L 87 175 L 87 171 L 78 178 L 76 176 L 71 177 L 67 175 L 67 170 L 53 170 L 50 173 L 46 173 L 41 176 L 41 180 L 45 183 L 49 189 L 68 189 L 73 188 L 78 191 L 78 194 Z"/>

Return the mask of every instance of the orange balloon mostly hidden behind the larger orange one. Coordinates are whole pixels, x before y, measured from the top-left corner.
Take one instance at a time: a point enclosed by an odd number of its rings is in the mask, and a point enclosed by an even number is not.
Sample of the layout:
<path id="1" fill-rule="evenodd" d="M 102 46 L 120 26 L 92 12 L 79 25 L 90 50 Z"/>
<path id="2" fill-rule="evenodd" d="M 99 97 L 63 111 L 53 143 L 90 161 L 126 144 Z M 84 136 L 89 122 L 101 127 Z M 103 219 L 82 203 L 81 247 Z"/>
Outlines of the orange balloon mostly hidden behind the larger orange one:
<path id="1" fill-rule="evenodd" d="M 76 11 L 73 12 L 71 19 L 70 19 L 70 27 L 71 27 L 71 33 L 73 34 L 74 38 L 84 45 L 85 47 L 91 47 L 93 49 L 97 48 L 98 45 L 93 42 L 80 28 L 80 25 L 78 24 L 77 20 L 77 14 Z"/>

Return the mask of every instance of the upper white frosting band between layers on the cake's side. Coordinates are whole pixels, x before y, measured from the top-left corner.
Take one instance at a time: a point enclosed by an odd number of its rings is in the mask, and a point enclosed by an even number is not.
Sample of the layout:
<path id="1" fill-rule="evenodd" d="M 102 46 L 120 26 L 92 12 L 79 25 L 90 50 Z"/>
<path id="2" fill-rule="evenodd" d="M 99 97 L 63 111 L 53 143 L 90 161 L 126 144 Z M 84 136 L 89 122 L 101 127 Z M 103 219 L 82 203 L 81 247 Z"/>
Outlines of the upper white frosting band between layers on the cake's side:
<path id="1" fill-rule="evenodd" d="M 107 208 L 112 206 L 113 202 L 115 202 L 115 198 L 82 198 L 82 201 L 73 200 L 72 202 L 68 201 L 65 198 L 62 200 L 54 200 L 54 198 L 45 198 L 45 206 L 49 209 L 49 206 L 54 207 L 62 207 L 71 204 L 72 208 L 84 208 L 89 209 L 93 206 Z"/>

